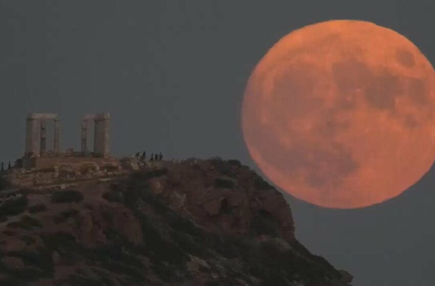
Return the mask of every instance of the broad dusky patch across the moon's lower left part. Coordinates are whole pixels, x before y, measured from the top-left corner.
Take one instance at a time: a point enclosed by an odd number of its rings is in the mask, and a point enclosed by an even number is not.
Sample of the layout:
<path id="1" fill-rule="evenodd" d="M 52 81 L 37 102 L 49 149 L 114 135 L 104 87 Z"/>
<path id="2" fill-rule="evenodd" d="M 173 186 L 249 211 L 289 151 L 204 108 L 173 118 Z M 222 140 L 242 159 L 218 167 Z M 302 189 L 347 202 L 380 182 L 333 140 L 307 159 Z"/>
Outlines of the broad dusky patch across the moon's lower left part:
<path id="1" fill-rule="evenodd" d="M 293 133 L 292 146 L 282 146 L 277 138 L 287 135 L 279 129 L 252 130 L 250 136 L 267 163 L 289 178 L 302 171 L 312 187 L 340 186 L 343 178 L 359 169 L 352 152 L 331 140 L 310 142 L 306 135 Z"/>

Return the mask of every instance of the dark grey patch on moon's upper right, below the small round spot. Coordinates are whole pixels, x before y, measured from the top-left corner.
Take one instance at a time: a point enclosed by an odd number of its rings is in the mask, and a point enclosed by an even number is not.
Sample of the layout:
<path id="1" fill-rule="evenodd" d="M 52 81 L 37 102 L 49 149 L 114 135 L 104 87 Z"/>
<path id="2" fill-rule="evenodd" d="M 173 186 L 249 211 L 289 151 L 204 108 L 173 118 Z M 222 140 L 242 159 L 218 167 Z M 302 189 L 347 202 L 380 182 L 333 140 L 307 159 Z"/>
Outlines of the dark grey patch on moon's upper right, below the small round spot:
<path id="1" fill-rule="evenodd" d="M 395 110 L 395 99 L 400 96 L 402 86 L 399 77 L 387 71 L 382 76 L 373 79 L 371 85 L 365 90 L 365 99 L 368 104 L 381 110 Z"/>

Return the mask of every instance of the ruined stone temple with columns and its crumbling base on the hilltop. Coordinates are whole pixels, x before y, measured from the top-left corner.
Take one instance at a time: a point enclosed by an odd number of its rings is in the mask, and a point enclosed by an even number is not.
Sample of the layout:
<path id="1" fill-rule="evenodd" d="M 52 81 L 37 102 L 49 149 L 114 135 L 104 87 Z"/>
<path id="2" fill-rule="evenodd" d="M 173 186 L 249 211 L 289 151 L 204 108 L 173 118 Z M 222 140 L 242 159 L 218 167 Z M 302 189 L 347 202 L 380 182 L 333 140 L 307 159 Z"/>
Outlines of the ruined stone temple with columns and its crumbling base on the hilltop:
<path id="1" fill-rule="evenodd" d="M 116 158 L 110 154 L 110 113 L 85 115 L 81 123 L 81 150 L 60 148 L 60 119 L 54 113 L 26 117 L 26 148 L 23 157 L 8 168 L 5 178 L 19 188 L 64 188 L 89 180 L 110 180 L 144 168 L 163 168 L 169 162 L 138 157 Z M 47 146 L 47 122 L 54 121 L 53 150 Z M 94 147 L 88 150 L 88 128 L 94 122 Z"/>

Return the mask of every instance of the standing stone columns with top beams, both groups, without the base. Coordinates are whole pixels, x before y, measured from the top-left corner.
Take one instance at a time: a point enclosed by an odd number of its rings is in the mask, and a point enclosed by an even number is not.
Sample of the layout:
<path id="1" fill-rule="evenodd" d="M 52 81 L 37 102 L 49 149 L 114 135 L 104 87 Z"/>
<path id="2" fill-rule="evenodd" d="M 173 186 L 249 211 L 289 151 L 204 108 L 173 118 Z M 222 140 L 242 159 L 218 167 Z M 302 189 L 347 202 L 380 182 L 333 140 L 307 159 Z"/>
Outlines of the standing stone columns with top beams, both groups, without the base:
<path id="1" fill-rule="evenodd" d="M 47 121 L 54 121 L 53 151 L 60 152 L 60 120 L 57 114 L 31 113 L 26 123 L 26 156 L 37 156 L 47 151 Z M 110 154 L 110 113 L 85 115 L 81 123 L 81 151 L 88 152 L 88 125 L 94 121 L 94 153 L 100 156 Z"/>

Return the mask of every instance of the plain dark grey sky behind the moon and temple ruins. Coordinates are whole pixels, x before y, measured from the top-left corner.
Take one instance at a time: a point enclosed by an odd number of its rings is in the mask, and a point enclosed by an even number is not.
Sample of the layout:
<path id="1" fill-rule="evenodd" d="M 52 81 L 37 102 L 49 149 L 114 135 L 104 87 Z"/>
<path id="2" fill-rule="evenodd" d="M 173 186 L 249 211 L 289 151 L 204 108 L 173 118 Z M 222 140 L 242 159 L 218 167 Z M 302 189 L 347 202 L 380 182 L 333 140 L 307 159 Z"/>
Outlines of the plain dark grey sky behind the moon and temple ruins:
<path id="1" fill-rule="evenodd" d="M 433 65 L 434 8 L 431 0 L 0 0 L 0 161 L 24 154 L 28 112 L 59 113 L 61 148 L 75 150 L 83 115 L 111 112 L 116 156 L 221 156 L 262 174 L 240 111 L 248 77 L 274 43 L 312 23 L 366 20 L 407 37 Z M 352 273 L 354 286 L 432 286 L 434 190 L 432 167 L 368 208 L 285 197 L 297 239 Z"/>

